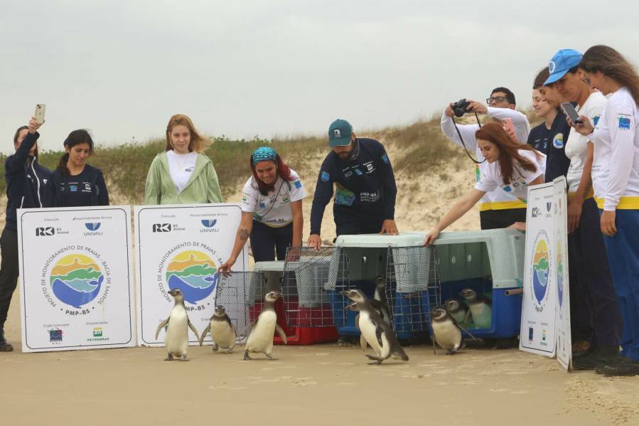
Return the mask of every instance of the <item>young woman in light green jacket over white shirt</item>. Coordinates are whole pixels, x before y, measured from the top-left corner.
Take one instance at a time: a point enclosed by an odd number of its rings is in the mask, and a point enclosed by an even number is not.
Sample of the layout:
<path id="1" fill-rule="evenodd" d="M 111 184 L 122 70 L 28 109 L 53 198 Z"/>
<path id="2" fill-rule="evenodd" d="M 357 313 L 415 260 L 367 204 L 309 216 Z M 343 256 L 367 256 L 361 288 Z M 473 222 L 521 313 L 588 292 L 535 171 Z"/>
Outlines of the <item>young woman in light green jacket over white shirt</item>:
<path id="1" fill-rule="evenodd" d="M 207 144 L 190 118 L 173 115 L 166 126 L 166 151 L 154 158 L 146 175 L 144 203 L 221 203 L 213 161 L 202 154 Z"/>

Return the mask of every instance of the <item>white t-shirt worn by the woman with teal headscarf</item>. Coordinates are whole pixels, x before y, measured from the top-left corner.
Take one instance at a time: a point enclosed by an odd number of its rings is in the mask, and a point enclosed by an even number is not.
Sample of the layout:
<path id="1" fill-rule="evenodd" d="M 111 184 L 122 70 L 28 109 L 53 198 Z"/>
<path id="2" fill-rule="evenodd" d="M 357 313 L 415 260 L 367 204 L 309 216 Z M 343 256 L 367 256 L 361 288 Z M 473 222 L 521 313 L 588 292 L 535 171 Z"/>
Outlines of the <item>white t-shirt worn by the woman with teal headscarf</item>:
<path id="1" fill-rule="evenodd" d="M 253 219 L 274 228 L 281 228 L 293 221 L 291 203 L 306 197 L 306 191 L 298 174 L 291 169 L 292 181 L 284 181 L 280 177 L 275 182 L 273 191 L 263 196 L 259 192 L 257 182 L 251 176 L 242 189 L 240 208 L 253 213 Z"/>

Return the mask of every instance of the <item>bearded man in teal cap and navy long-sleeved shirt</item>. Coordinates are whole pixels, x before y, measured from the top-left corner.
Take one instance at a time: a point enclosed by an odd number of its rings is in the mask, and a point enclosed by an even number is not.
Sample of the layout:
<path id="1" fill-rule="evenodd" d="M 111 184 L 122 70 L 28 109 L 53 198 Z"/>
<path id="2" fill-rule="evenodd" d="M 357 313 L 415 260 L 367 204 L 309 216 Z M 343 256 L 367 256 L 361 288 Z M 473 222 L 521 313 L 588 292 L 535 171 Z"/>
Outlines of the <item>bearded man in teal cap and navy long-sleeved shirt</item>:
<path id="1" fill-rule="evenodd" d="M 310 247 L 319 248 L 322 217 L 333 196 L 336 234 L 397 234 L 397 186 L 386 150 L 375 139 L 360 138 L 344 119 L 328 128 L 331 152 L 322 163 L 311 208 Z"/>

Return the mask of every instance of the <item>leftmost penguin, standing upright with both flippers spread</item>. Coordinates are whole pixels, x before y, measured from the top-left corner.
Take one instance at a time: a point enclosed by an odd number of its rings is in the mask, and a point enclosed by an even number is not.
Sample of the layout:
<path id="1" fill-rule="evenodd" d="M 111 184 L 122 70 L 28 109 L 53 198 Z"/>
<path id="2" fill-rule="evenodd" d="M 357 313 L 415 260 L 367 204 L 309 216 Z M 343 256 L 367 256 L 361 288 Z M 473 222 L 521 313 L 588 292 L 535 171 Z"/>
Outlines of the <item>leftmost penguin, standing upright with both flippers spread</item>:
<path id="1" fill-rule="evenodd" d="M 156 331 L 156 340 L 160 335 L 160 330 L 166 327 L 166 335 L 164 336 L 164 345 L 168 356 L 164 361 L 173 361 L 173 357 L 180 358 L 180 361 L 188 361 L 186 357 L 186 349 L 188 348 L 188 328 L 190 327 L 195 333 L 195 336 L 199 336 L 198 330 L 191 324 L 186 314 L 186 307 L 184 306 L 184 297 L 180 289 L 172 289 L 168 294 L 173 296 L 176 301 L 171 309 L 171 314 L 167 319 L 162 321 Z"/>

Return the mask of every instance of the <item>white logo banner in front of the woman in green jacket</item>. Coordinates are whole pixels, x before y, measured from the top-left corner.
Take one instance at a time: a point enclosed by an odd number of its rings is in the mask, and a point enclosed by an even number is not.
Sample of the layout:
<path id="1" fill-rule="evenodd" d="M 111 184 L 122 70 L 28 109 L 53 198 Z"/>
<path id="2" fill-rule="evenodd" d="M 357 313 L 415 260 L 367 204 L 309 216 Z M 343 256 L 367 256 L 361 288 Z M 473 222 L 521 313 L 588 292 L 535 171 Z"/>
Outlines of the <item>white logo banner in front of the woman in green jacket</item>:
<path id="1" fill-rule="evenodd" d="M 201 333 L 215 308 L 218 267 L 229 258 L 240 226 L 237 204 L 136 206 L 136 278 L 139 344 L 163 346 L 156 329 L 173 309 L 171 289 L 180 289 L 188 317 Z M 232 269 L 248 268 L 242 250 Z M 190 344 L 200 336 L 188 331 Z M 210 343 L 210 337 L 205 339 Z"/>

